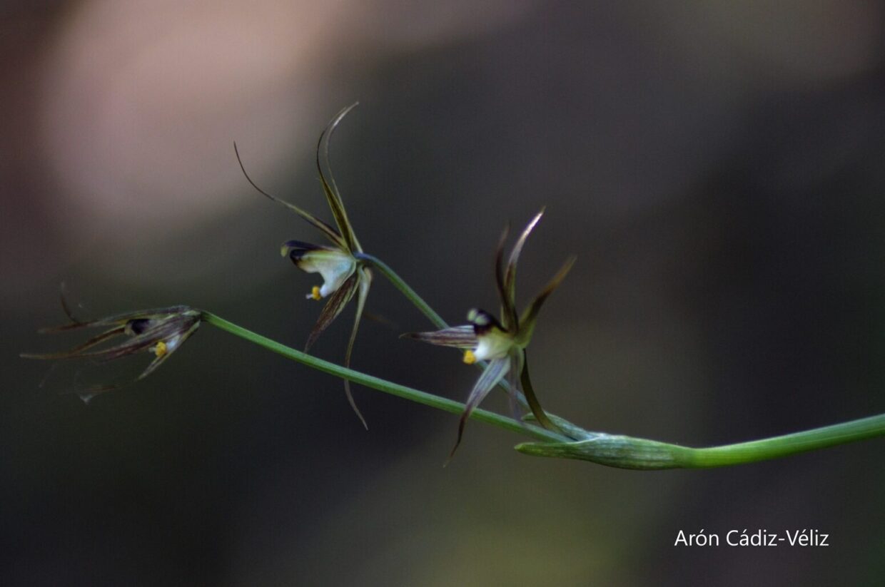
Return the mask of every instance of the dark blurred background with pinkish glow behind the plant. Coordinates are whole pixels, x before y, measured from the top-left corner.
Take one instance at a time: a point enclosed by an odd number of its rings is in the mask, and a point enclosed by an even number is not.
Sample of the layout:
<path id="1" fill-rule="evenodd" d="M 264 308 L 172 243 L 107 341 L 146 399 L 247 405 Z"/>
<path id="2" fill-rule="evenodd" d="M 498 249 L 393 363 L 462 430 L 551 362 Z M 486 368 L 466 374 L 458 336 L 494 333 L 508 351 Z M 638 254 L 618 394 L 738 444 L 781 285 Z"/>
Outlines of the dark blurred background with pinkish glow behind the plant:
<path id="1" fill-rule="evenodd" d="M 885 412 L 882 4 L 6 2 L 0 583 L 857 584 L 885 578 L 882 441 L 733 469 L 532 459 L 472 423 L 204 327 L 84 405 L 19 358 L 87 316 L 188 303 L 301 347 L 317 283 L 278 250 L 330 219 L 451 322 L 520 265 L 578 263 L 532 344 L 545 407 L 708 446 Z M 464 399 L 457 356 L 378 279 L 353 364 Z M 352 308 L 315 347 L 341 361 Z M 149 357 L 145 357 L 147 360 Z M 98 371 L 101 376 L 101 371 Z M 43 385 L 41 386 L 41 382 Z M 503 394 L 487 407 L 506 413 Z M 827 548 L 677 548 L 818 529 Z"/>

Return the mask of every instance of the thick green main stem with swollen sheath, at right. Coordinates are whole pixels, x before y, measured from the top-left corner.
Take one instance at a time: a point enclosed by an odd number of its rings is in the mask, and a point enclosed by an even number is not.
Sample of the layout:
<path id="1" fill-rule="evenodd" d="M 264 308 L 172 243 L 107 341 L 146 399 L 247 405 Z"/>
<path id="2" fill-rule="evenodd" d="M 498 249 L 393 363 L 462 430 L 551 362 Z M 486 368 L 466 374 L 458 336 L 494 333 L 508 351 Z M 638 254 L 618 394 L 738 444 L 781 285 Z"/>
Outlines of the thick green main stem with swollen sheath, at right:
<path id="1" fill-rule="evenodd" d="M 554 418 L 556 421 L 556 418 Z M 573 435 L 569 423 L 560 423 Z M 657 440 L 584 432 L 583 439 L 567 443 L 526 443 L 524 454 L 580 459 L 620 469 L 710 469 L 778 459 L 793 454 L 885 436 L 885 414 L 733 445 L 691 448 Z"/>

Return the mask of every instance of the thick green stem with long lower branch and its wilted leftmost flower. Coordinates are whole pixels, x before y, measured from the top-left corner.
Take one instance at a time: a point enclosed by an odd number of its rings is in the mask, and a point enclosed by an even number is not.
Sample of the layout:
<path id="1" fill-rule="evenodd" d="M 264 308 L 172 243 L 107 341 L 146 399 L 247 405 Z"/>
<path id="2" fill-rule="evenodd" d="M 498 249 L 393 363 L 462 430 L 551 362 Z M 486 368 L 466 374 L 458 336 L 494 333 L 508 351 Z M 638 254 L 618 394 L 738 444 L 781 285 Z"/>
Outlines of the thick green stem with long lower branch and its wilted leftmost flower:
<path id="1" fill-rule="evenodd" d="M 65 312 L 67 312 L 66 306 Z M 68 314 L 70 316 L 69 312 Z M 155 358 L 149 367 L 142 371 L 139 377 L 136 377 L 135 381 L 137 381 L 156 370 L 159 364 L 164 362 L 174 350 L 181 347 L 181 343 L 189 338 L 200 324 L 212 324 L 222 331 L 334 377 L 342 377 L 370 389 L 396 395 L 404 400 L 414 401 L 450 414 L 463 414 L 465 410 L 465 404 L 459 401 L 449 400 L 433 393 L 422 392 L 381 377 L 373 377 L 361 371 L 342 367 L 334 362 L 324 361 L 229 322 L 212 312 L 188 306 L 142 310 L 89 322 L 77 321 L 73 319 L 73 316 L 70 317 L 71 324 L 44 329 L 42 332 L 68 331 L 86 327 L 104 327 L 107 330 L 63 353 L 22 354 L 21 356 L 36 359 L 93 358 L 113 360 L 129 354 L 150 351 L 150 354 L 154 354 Z M 114 337 L 119 336 L 125 336 L 128 339 L 112 347 L 98 348 L 100 344 L 107 344 Z M 85 395 L 84 399 L 88 400 L 96 393 L 116 389 L 119 386 L 94 387 L 86 390 L 88 393 L 81 393 L 81 396 Z M 586 431 L 565 418 L 550 413 L 547 415 L 558 431 L 550 431 L 535 425 L 533 415 L 527 415 L 526 422 L 519 422 L 504 415 L 475 408 L 468 417 L 476 422 L 491 424 L 497 428 L 534 438 L 535 442 L 521 443 L 515 447 L 522 454 L 576 459 L 607 467 L 635 470 L 730 467 L 885 436 L 885 414 L 881 414 L 773 438 L 762 438 L 723 446 L 693 448 L 648 438 Z"/>

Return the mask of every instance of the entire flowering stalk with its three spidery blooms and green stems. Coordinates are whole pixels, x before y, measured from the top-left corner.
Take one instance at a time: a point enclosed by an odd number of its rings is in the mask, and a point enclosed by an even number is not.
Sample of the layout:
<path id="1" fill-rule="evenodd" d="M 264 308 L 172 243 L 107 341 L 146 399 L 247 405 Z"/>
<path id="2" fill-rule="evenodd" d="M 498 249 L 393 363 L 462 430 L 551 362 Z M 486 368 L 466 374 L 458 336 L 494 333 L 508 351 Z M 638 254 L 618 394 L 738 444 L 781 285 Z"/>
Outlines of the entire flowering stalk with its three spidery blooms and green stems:
<path id="1" fill-rule="evenodd" d="M 289 257 L 300 270 L 307 273 L 319 273 L 323 279 L 321 286 L 313 286 L 311 293 L 307 294 L 307 297 L 313 300 L 327 298 L 327 303 L 320 312 L 317 323 L 307 339 L 304 351 L 296 350 L 256 332 L 251 332 L 211 312 L 189 306 L 147 309 L 97 320 L 82 321 L 73 316 L 63 296 L 62 306 L 70 323 L 56 328 L 43 329 L 41 332 L 63 332 L 89 328 L 99 328 L 103 332 L 99 332 L 80 345 L 64 352 L 21 354 L 21 356 L 33 359 L 87 359 L 94 362 L 107 362 L 135 354 L 152 355 L 150 362 L 140 374 L 128 381 L 128 383 L 135 383 L 157 370 L 196 332 L 201 324 L 212 324 L 220 330 L 281 354 L 290 360 L 301 362 L 329 375 L 341 377 L 350 405 L 364 425 L 366 421 L 359 413 L 350 393 L 350 382 L 415 401 L 431 408 L 460 414 L 458 441 L 455 448 L 452 449 L 452 454 L 458 447 L 467 419 L 489 423 L 504 430 L 533 438 L 534 442 L 524 442 L 515 447 L 522 454 L 591 461 L 609 467 L 636 470 L 727 467 L 885 436 L 885 414 L 882 414 L 773 438 L 724 446 L 692 448 L 647 438 L 587 431 L 565 418 L 545 412 L 537 400 L 528 374 L 526 347 L 534 332 L 536 319 L 543 302 L 566 277 L 574 259 L 570 258 L 566 261 L 542 292 L 528 303 L 521 314 L 517 312 L 515 285 L 517 262 L 528 235 L 543 215 L 542 210 L 528 223 L 516 240 L 507 263 L 504 263 L 506 231 L 499 242 L 495 260 L 495 278 L 500 301 L 500 317 L 473 309 L 467 315 L 469 324 L 450 327 L 386 263 L 363 251 L 350 224 L 338 187 L 335 185 L 335 179 L 331 171 L 328 170 L 328 142 L 335 126 L 354 106 L 356 104 L 345 108 L 333 118 L 326 130 L 320 134 L 317 145 L 317 170 L 327 204 L 334 218 L 334 225 L 327 224 L 292 203 L 267 194 L 258 188 L 246 174 L 246 179 L 261 194 L 295 212 L 297 216 L 313 225 L 330 241 L 330 245 L 313 245 L 301 240 L 289 240 L 281 248 L 282 255 Z M 237 159 L 239 161 L 239 153 L 237 153 Z M 242 167 L 242 161 L 240 164 Z M 324 172 L 324 167 L 327 172 Z M 244 168 L 243 173 L 246 173 Z M 407 300 L 412 302 L 440 329 L 437 332 L 413 332 L 406 336 L 435 345 L 457 347 L 465 351 L 465 362 L 475 363 L 482 369 L 481 376 L 474 384 L 465 403 L 350 369 L 350 355 L 369 293 L 373 277 L 372 270 L 379 271 L 381 275 L 388 278 Z M 341 366 L 308 354 L 307 351 L 319 337 L 319 334 L 326 330 L 327 326 L 339 316 L 342 309 L 354 297 L 357 298 L 356 316 L 344 354 L 344 365 Z M 89 400 L 96 393 L 116 389 L 122 385 L 125 384 L 89 386 L 81 390 L 80 394 L 84 400 Z M 528 408 L 531 414 L 522 417 L 516 415 L 510 418 L 479 408 L 481 401 L 496 385 L 501 385 L 507 391 L 512 400 L 514 413 L 516 413 L 516 403 L 519 403 L 523 408 Z"/>

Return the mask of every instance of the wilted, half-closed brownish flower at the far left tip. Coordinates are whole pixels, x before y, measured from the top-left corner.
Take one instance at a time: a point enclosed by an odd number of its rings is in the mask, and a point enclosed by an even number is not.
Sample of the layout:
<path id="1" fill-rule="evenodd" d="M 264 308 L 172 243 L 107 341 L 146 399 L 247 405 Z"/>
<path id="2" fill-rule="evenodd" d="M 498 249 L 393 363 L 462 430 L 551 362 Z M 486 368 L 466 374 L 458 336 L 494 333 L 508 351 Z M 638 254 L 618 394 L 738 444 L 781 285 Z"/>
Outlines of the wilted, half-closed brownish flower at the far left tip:
<path id="1" fill-rule="evenodd" d="M 104 328 L 86 342 L 60 353 L 21 354 L 28 359 L 92 359 L 99 362 L 113 361 L 132 354 L 147 351 L 154 355 L 153 360 L 135 377 L 134 383 L 158 369 L 184 341 L 196 332 L 203 320 L 203 312 L 189 306 L 172 306 L 170 308 L 144 309 L 137 312 L 117 314 L 81 322 L 73 317 L 64 298 L 62 307 L 70 318 L 71 324 L 44 328 L 40 332 L 65 332 L 81 328 Z M 122 340 L 119 340 L 122 339 Z M 116 344 L 112 344 L 112 341 Z M 81 390 L 84 401 L 91 400 L 97 393 L 118 389 L 126 384 L 90 385 Z"/>

